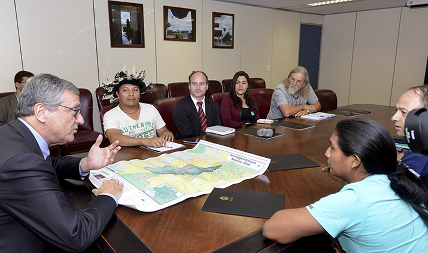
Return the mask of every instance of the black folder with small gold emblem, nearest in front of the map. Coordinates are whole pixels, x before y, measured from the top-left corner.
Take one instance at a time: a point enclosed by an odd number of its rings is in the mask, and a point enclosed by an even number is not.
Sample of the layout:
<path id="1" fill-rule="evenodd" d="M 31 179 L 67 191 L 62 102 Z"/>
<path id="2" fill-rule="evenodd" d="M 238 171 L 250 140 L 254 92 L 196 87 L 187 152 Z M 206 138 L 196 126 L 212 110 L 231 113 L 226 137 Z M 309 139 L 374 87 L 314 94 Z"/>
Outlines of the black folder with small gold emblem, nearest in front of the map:
<path id="1" fill-rule="evenodd" d="M 269 219 L 284 209 L 284 201 L 284 194 L 214 188 L 202 210 Z"/>

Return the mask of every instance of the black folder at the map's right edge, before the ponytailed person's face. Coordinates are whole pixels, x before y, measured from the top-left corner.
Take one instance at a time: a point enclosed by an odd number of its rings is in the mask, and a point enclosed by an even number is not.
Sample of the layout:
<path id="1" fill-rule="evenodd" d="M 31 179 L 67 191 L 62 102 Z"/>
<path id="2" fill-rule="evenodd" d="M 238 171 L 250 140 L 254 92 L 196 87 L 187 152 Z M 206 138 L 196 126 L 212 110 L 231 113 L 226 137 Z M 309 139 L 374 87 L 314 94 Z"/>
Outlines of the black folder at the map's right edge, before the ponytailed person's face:
<path id="1" fill-rule="evenodd" d="M 269 172 L 290 170 L 292 168 L 308 168 L 308 167 L 319 167 L 320 164 L 307 158 L 306 156 L 295 153 L 286 155 L 271 155 L 267 156 L 270 158 L 270 164 L 267 170 Z"/>

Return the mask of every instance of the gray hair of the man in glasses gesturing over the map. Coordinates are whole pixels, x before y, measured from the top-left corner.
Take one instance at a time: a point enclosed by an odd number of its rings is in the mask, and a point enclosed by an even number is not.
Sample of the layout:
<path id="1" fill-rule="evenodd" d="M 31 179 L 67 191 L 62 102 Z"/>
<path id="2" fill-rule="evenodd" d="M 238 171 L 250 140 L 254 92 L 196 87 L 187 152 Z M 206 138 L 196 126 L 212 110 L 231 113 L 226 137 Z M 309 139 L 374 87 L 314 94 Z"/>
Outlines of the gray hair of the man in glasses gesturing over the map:
<path id="1" fill-rule="evenodd" d="M 34 115 L 34 105 L 37 103 L 46 105 L 49 110 L 56 109 L 62 103 L 65 91 L 80 95 L 79 89 L 71 82 L 51 74 L 28 78 L 19 96 L 15 117 Z"/>

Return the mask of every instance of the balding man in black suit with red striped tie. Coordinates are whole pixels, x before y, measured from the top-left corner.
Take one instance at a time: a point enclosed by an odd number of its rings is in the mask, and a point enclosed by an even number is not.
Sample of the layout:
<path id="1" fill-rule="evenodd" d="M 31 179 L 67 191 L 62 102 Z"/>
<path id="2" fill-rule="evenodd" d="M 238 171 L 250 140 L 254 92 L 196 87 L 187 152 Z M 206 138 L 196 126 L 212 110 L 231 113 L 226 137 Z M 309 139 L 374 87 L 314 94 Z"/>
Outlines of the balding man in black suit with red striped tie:
<path id="1" fill-rule="evenodd" d="M 220 124 L 220 110 L 217 102 L 206 98 L 208 77 L 202 71 L 189 75 L 190 94 L 174 107 L 172 120 L 177 128 L 175 139 L 199 136 L 208 126 Z"/>

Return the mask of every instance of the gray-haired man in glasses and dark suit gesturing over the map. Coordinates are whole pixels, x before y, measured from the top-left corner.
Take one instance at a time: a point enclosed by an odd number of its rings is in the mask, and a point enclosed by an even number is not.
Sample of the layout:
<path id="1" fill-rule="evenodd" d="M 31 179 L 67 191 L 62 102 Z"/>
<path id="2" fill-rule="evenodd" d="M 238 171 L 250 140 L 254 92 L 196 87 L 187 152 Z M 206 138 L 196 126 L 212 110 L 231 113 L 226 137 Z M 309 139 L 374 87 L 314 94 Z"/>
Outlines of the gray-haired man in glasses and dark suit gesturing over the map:
<path id="1" fill-rule="evenodd" d="M 100 135 L 83 159 L 49 155 L 49 145 L 73 141 L 80 107 L 71 82 L 40 74 L 26 82 L 17 118 L 0 127 L 0 252 L 83 251 L 113 215 L 123 184 L 105 181 L 78 212 L 58 179 L 82 180 L 110 164 L 118 142 L 100 148 Z"/>

